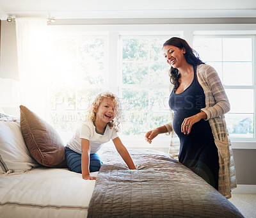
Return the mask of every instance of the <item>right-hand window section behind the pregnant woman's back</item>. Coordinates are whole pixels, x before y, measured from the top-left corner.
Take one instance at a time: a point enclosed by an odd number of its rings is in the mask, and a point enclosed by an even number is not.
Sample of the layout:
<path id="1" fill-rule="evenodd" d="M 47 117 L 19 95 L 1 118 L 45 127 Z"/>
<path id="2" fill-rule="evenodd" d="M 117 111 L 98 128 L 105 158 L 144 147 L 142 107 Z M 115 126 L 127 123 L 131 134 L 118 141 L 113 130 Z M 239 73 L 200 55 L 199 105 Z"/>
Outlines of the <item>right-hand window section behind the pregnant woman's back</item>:
<path id="1" fill-rule="evenodd" d="M 226 114 L 231 137 L 255 137 L 253 40 L 253 36 L 195 36 L 193 40 L 193 48 L 216 69 L 225 87 L 231 105 Z"/>

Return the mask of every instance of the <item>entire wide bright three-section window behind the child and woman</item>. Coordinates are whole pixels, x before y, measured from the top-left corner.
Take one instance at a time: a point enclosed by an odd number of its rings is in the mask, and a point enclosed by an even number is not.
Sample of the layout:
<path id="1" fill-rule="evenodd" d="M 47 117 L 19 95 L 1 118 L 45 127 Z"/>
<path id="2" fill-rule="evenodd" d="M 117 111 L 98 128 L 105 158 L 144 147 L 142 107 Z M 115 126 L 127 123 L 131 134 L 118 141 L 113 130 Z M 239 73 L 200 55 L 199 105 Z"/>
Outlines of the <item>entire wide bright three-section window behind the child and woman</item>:
<path id="1" fill-rule="evenodd" d="M 100 32 L 95 31 L 99 26 L 80 28 L 49 36 L 47 120 L 60 132 L 63 141 L 73 136 L 88 105 L 105 90 L 118 95 L 122 102 L 121 134 L 125 145 L 132 146 L 131 139 L 145 143 L 148 130 L 168 123 L 170 66 L 161 49 L 172 36 L 185 38 L 220 75 L 231 104 L 226 120 L 232 140 L 255 139 L 254 35 L 214 35 L 211 31 L 210 36 L 204 34 L 204 27 L 194 31 L 190 26 L 190 31 L 179 32 L 152 31 L 152 27 L 134 27 L 129 31 L 122 27 L 120 31 L 119 27 L 108 30 L 104 26 Z M 156 146 L 166 148 L 170 144 L 170 137 L 165 134 L 157 140 Z"/>

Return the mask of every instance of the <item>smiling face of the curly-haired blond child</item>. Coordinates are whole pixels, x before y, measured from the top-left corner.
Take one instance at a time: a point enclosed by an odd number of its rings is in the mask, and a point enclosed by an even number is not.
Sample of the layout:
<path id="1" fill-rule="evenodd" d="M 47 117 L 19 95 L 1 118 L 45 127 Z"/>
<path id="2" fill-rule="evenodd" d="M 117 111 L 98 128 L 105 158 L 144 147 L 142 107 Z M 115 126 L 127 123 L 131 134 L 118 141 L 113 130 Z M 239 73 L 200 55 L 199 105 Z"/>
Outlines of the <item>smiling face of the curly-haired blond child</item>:
<path id="1" fill-rule="evenodd" d="M 96 112 L 96 121 L 108 123 L 115 118 L 115 105 L 112 98 L 103 98 Z"/>

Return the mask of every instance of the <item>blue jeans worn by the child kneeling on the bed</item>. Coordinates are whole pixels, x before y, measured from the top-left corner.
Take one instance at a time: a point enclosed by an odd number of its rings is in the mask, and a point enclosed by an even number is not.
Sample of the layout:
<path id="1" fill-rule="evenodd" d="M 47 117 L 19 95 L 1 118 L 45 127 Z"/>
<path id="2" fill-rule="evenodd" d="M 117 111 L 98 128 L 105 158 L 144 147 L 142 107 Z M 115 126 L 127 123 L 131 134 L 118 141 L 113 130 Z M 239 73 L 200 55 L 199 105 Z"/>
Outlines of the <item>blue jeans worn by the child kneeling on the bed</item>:
<path id="1" fill-rule="evenodd" d="M 72 149 L 65 147 L 65 159 L 67 161 L 67 166 L 70 171 L 76 173 L 82 173 L 81 168 L 81 154 L 74 152 Z M 100 170 L 100 166 L 102 161 L 100 160 L 99 155 L 97 153 L 90 154 L 90 172 L 95 172 Z"/>

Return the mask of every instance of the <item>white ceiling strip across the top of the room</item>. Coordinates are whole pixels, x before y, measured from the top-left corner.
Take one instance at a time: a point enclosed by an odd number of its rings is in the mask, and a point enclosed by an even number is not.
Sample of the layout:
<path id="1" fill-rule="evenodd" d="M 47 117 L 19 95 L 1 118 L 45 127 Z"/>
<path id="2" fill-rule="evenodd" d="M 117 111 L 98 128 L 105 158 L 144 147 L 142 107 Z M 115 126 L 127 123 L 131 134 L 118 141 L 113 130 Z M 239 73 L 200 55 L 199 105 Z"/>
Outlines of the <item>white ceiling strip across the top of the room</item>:
<path id="1" fill-rule="evenodd" d="M 256 17 L 256 0 L 0 0 L 0 19 Z"/>

